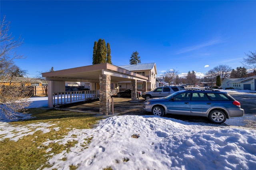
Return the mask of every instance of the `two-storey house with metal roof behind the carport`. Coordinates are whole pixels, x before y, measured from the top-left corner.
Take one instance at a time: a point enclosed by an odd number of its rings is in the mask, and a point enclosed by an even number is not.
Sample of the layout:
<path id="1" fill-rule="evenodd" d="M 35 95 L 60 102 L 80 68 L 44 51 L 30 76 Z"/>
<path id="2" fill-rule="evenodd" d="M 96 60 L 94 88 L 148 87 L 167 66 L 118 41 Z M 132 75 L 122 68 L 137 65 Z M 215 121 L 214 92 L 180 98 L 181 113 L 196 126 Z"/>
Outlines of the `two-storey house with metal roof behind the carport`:
<path id="1" fill-rule="evenodd" d="M 140 74 L 142 76 L 148 77 L 147 85 L 146 87 L 144 82 L 137 81 L 137 90 L 140 91 L 151 91 L 156 88 L 156 63 L 146 63 L 146 64 L 132 64 L 132 65 L 123 65 L 118 66 L 121 68 L 124 68 L 126 70 L 129 70 L 131 72 L 135 72 L 137 74 Z M 119 90 L 126 90 L 131 88 L 131 82 L 118 82 L 119 84 Z"/>

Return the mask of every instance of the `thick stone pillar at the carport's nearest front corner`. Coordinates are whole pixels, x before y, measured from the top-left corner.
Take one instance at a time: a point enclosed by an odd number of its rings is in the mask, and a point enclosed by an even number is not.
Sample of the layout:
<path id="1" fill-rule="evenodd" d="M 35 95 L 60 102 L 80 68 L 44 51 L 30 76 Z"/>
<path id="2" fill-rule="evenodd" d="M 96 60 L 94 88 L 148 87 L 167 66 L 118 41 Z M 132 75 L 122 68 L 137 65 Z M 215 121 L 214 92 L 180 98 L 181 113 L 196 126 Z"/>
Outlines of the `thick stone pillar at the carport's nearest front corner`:
<path id="1" fill-rule="evenodd" d="M 100 114 L 111 113 L 110 75 L 100 74 Z"/>

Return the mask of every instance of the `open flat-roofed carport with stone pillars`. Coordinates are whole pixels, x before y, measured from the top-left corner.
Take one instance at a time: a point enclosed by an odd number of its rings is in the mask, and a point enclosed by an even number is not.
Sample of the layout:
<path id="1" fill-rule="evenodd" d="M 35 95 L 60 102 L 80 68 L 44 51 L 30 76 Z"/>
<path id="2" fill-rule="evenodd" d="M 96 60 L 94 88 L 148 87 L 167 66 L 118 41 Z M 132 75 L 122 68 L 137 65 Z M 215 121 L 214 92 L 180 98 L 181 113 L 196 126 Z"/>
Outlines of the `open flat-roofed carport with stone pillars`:
<path id="1" fill-rule="evenodd" d="M 55 92 L 65 92 L 65 82 L 91 82 L 99 84 L 100 113 L 111 112 L 111 83 L 132 82 L 132 101 L 136 101 L 137 80 L 147 82 L 148 78 L 108 63 L 94 64 L 65 70 L 42 73 L 48 82 L 48 107 L 53 107 Z M 92 87 L 96 90 L 96 86 Z"/>

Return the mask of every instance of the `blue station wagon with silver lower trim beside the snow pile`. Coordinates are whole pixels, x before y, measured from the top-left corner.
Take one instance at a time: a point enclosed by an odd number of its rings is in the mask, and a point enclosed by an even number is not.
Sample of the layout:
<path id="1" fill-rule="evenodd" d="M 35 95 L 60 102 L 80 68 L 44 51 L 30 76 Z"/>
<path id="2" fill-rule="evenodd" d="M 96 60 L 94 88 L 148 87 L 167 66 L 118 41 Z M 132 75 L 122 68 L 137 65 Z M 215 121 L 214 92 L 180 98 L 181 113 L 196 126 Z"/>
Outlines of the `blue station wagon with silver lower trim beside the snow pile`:
<path id="1" fill-rule="evenodd" d="M 143 108 L 158 116 L 166 113 L 204 116 L 218 124 L 244 115 L 240 103 L 219 90 L 182 90 L 164 98 L 146 100 Z"/>

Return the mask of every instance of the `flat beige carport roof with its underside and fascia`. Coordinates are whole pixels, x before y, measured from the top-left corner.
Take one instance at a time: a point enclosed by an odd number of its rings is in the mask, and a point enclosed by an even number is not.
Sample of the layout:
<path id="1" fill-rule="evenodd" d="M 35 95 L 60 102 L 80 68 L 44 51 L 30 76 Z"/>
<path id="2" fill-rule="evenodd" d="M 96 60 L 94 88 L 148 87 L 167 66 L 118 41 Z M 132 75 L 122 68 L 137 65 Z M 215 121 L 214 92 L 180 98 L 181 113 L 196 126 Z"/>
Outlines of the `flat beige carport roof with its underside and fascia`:
<path id="1" fill-rule="evenodd" d="M 111 82 L 130 81 L 131 79 L 148 80 L 145 76 L 108 63 L 44 72 L 42 73 L 42 77 L 52 81 L 99 82 L 100 74 L 109 74 L 111 76 Z"/>

